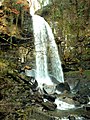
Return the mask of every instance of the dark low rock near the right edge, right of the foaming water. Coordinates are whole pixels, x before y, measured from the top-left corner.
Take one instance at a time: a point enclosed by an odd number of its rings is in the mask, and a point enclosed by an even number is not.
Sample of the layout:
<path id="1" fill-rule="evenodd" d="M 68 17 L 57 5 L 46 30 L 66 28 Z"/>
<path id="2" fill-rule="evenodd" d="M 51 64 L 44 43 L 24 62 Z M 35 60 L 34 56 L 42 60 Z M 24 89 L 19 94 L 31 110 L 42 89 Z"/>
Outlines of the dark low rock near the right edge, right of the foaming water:
<path id="1" fill-rule="evenodd" d="M 73 97 L 73 100 L 78 101 L 80 104 L 87 104 L 89 102 L 88 96 L 76 95 Z"/>

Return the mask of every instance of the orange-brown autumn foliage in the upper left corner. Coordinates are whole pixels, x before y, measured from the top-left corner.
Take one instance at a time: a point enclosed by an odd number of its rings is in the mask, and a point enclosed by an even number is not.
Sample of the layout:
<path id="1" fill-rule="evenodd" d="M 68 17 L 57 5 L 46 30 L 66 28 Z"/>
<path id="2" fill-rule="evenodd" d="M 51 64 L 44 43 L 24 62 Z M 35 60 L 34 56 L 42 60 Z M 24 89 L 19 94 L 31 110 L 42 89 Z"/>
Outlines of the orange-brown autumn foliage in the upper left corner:
<path id="1" fill-rule="evenodd" d="M 22 25 L 24 12 L 28 10 L 28 4 L 24 0 L 5 0 L 0 8 L 0 33 L 20 37 L 20 24 Z"/>

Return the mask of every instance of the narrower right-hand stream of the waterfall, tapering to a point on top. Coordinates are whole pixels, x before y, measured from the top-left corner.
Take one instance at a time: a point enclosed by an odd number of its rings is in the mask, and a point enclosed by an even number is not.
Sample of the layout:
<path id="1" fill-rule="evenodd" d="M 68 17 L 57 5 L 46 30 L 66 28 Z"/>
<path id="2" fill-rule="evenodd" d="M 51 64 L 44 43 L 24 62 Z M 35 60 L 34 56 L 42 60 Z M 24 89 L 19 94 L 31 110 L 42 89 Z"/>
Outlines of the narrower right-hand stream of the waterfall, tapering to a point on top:
<path id="1" fill-rule="evenodd" d="M 49 56 L 51 62 L 51 73 L 59 82 L 64 82 L 63 71 L 61 67 L 61 61 L 58 55 L 58 48 L 54 40 L 54 35 L 49 24 L 45 21 L 47 34 L 48 34 L 48 47 L 49 47 Z"/>

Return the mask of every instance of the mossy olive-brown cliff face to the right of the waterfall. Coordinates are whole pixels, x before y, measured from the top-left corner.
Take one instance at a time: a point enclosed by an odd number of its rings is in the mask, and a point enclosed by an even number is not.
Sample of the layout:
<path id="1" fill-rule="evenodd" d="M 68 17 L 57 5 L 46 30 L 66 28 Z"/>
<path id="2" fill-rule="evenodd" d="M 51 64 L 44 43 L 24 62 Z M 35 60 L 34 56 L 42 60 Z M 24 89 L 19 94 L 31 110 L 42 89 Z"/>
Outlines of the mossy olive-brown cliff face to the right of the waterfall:
<path id="1" fill-rule="evenodd" d="M 89 5 L 87 0 L 55 0 L 37 11 L 52 27 L 65 67 L 73 70 L 90 69 Z"/>

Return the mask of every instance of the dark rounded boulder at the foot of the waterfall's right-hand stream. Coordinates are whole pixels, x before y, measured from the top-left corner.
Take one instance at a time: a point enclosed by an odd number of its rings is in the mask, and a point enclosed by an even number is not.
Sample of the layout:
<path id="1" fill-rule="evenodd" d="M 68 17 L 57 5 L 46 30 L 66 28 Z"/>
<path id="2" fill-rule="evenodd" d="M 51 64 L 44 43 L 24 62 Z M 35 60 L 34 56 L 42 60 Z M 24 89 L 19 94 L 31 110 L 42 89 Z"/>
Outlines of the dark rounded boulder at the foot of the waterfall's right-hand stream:
<path id="1" fill-rule="evenodd" d="M 70 87 L 69 87 L 69 85 L 68 85 L 67 82 L 65 82 L 65 83 L 60 83 L 60 84 L 58 84 L 58 85 L 56 86 L 56 90 L 57 90 L 58 92 L 61 92 L 61 93 L 63 93 L 64 91 L 70 92 Z"/>

